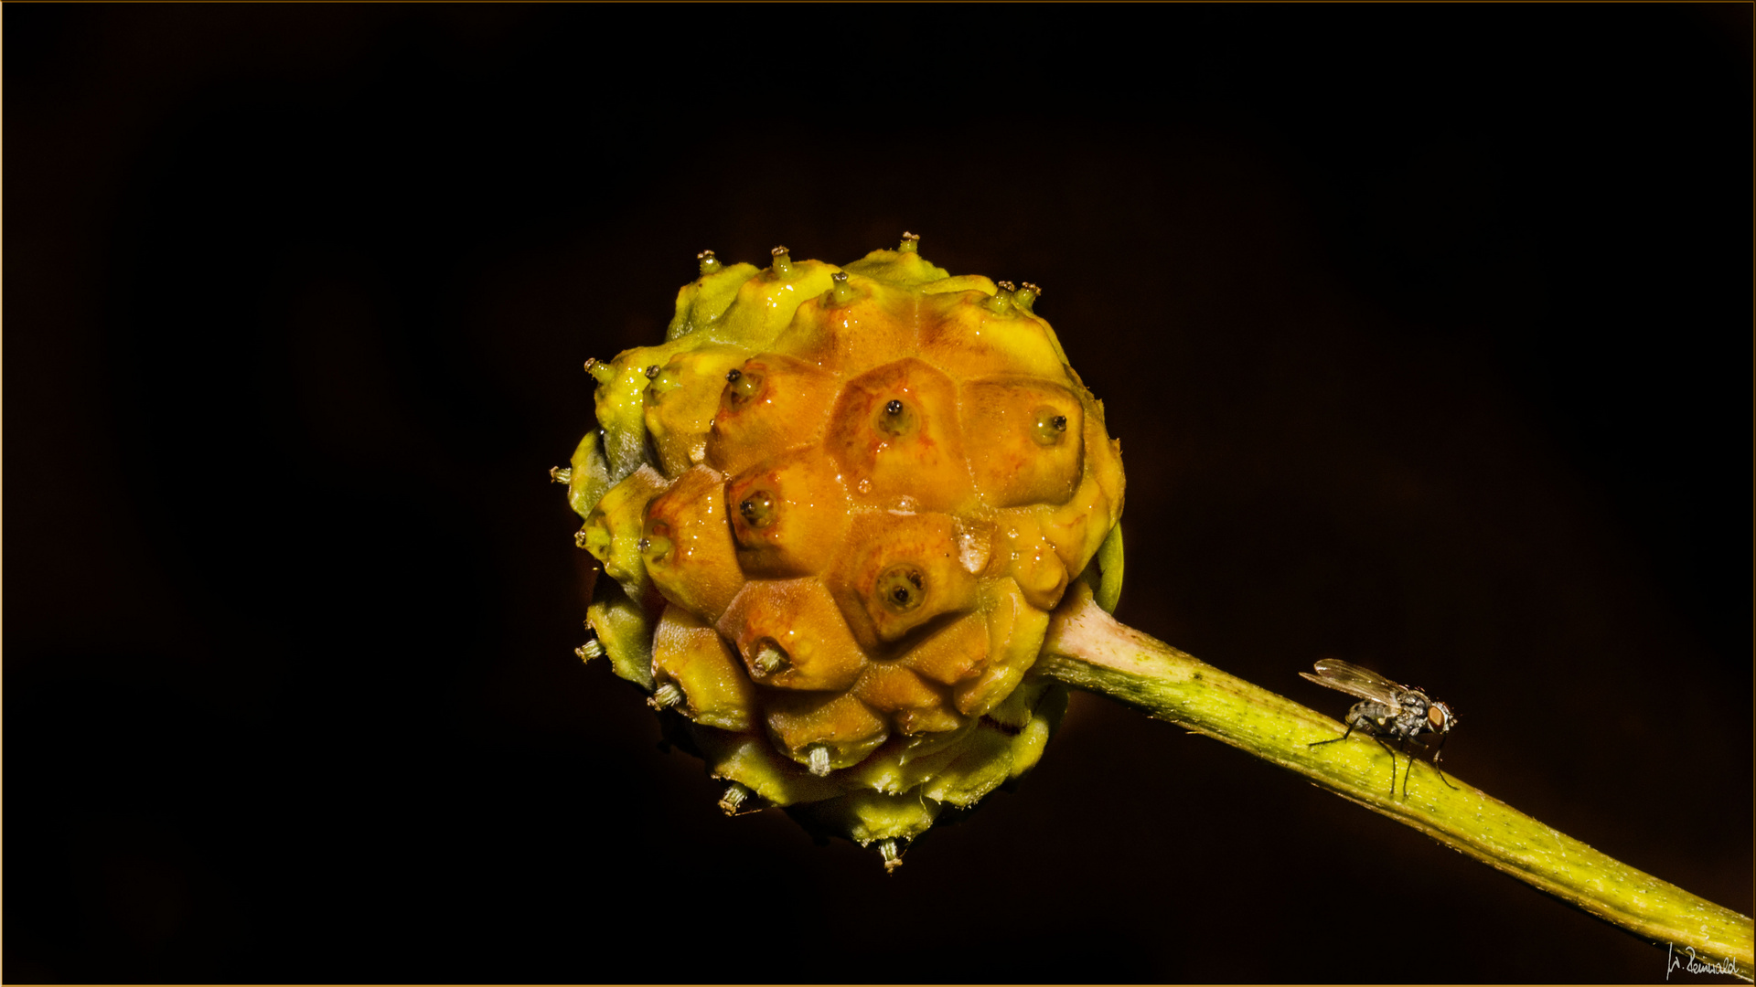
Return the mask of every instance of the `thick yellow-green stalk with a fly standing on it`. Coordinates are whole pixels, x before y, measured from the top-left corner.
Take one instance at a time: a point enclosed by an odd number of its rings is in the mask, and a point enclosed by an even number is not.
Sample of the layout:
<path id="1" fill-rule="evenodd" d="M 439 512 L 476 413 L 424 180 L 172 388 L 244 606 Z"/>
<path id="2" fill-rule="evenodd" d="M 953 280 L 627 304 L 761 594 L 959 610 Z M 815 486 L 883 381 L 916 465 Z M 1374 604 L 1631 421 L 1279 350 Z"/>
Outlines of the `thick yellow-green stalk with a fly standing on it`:
<path id="1" fill-rule="evenodd" d="M 1450 780 L 1454 790 L 1422 771 L 1407 797 L 1401 785 L 1393 794 L 1387 752 L 1371 738 L 1308 746 L 1342 736 L 1342 724 L 1117 623 L 1083 585 L 1057 608 L 1038 667 L 1305 774 L 1651 943 L 1675 943 L 1675 954 L 1693 947 L 1698 961 L 1728 973 L 1726 961 L 1735 961 L 1737 975 L 1751 980 L 1747 915 L 1607 857 L 1461 780 Z"/>

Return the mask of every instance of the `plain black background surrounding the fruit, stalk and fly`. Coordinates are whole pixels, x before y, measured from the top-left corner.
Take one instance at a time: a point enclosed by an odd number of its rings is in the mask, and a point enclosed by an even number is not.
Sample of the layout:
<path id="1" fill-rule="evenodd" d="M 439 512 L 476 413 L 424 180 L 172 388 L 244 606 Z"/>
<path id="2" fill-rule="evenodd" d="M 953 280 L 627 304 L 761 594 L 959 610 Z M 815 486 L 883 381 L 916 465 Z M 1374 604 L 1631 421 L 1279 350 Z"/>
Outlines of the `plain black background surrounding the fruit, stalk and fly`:
<path id="1" fill-rule="evenodd" d="M 1665 975 L 1094 697 L 890 878 L 723 818 L 572 655 L 546 471 L 695 251 L 903 230 L 1043 285 L 1124 620 L 1429 687 L 1457 776 L 1751 910 L 1749 5 L 4 28 L 9 982 Z"/>

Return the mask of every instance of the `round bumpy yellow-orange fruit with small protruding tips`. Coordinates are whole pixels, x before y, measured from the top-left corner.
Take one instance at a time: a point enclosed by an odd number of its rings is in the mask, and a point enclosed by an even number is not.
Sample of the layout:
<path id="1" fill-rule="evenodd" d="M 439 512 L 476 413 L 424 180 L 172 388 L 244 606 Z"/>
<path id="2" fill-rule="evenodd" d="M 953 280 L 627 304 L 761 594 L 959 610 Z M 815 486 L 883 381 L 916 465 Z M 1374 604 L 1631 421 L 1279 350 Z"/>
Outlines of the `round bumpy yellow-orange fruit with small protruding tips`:
<path id="1" fill-rule="evenodd" d="M 592 360 L 567 469 L 592 641 L 729 813 L 785 806 L 894 868 L 1029 771 L 1066 710 L 1050 613 L 1120 592 L 1122 460 L 1038 290 L 927 263 L 723 265 L 658 346 Z"/>

